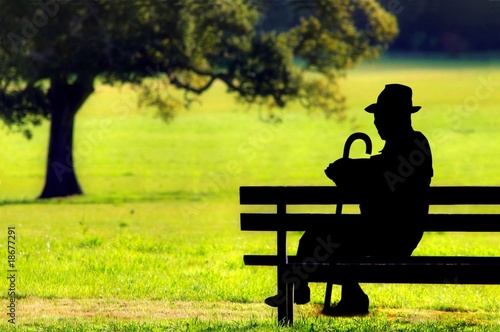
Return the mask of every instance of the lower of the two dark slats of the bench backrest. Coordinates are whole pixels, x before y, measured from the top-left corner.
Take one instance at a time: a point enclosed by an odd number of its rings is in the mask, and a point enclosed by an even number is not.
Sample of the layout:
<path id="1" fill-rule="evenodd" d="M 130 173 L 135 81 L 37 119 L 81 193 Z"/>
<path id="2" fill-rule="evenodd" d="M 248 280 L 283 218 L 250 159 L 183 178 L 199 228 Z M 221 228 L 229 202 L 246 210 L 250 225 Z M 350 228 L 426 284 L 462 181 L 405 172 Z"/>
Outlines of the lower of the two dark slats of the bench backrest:
<path id="1" fill-rule="evenodd" d="M 364 225 L 363 216 L 359 214 L 242 213 L 240 218 L 244 231 L 317 231 L 326 227 L 334 231 Z M 500 215 L 430 214 L 423 229 L 427 232 L 500 232 Z"/>

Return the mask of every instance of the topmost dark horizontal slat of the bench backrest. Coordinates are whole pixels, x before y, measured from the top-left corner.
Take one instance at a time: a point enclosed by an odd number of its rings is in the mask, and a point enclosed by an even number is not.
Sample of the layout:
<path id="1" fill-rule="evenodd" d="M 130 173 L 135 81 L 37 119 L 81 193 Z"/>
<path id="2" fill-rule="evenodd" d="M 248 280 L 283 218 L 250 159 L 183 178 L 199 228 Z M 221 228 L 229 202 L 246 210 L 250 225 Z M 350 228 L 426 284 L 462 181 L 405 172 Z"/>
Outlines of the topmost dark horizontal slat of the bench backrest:
<path id="1" fill-rule="evenodd" d="M 357 204 L 356 197 L 342 195 L 335 186 L 276 186 L 240 187 L 240 204 Z M 431 187 L 429 202 L 432 205 L 492 205 L 500 204 L 500 187 L 449 186 Z"/>

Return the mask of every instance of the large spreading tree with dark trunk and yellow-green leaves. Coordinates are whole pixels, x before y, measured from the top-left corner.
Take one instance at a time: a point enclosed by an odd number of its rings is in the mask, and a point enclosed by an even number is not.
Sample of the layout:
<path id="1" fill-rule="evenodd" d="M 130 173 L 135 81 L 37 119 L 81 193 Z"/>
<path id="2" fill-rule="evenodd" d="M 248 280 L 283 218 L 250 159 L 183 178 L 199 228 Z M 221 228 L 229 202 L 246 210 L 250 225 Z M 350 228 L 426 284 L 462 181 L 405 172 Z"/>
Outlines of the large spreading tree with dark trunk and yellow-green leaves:
<path id="1" fill-rule="evenodd" d="M 51 124 L 40 198 L 82 193 L 73 126 L 96 79 L 138 86 L 166 119 L 216 80 L 245 102 L 340 114 L 337 77 L 387 46 L 395 18 L 374 0 L 301 2 L 300 23 L 277 33 L 257 29 L 258 0 L 0 0 L 0 117 L 27 137 Z"/>

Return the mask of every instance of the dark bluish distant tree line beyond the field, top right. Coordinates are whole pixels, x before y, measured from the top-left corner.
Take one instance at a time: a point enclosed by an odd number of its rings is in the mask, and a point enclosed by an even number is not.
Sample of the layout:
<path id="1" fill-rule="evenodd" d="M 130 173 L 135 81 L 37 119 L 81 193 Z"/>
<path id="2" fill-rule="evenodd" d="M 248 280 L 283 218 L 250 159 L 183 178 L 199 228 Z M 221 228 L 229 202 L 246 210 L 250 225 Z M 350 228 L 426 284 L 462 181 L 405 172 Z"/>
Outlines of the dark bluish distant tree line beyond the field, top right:
<path id="1" fill-rule="evenodd" d="M 378 0 L 396 16 L 399 35 L 389 52 L 464 52 L 500 50 L 500 1 Z M 306 16 L 308 1 L 269 1 L 260 21 L 263 31 L 283 31 Z"/>

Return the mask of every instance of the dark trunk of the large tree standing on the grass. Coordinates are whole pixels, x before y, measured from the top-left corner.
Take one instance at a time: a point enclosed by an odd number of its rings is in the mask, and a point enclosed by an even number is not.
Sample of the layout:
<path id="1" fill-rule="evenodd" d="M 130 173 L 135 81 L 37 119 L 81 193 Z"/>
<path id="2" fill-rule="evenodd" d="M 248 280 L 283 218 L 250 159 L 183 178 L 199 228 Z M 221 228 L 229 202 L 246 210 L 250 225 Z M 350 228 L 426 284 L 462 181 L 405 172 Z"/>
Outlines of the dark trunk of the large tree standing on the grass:
<path id="1" fill-rule="evenodd" d="M 48 91 L 51 109 L 45 186 L 39 198 L 81 195 L 73 163 L 73 129 L 76 112 L 93 92 L 93 79 L 52 78 Z"/>

